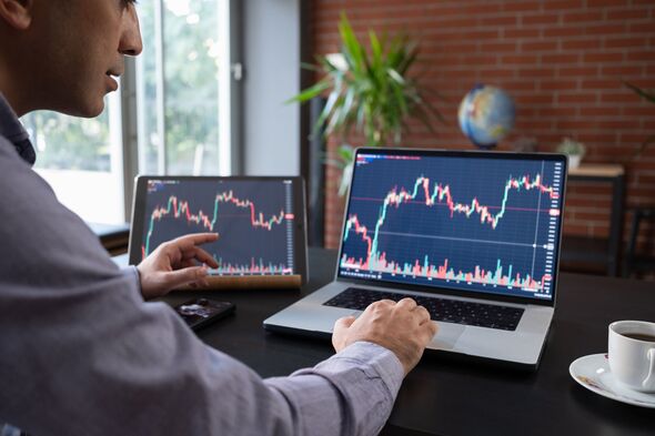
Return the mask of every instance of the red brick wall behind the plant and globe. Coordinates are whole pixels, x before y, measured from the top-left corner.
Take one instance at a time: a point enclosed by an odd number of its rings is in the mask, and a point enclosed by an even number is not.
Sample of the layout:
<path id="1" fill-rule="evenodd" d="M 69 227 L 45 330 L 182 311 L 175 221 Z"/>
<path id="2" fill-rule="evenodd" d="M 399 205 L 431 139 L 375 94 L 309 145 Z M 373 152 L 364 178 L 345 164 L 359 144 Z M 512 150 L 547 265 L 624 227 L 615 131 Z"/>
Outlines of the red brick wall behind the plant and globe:
<path id="1" fill-rule="evenodd" d="M 622 83 L 655 88 L 655 1 L 313 0 L 313 8 L 316 53 L 337 51 L 342 10 L 361 38 L 371 28 L 404 30 L 421 42 L 415 72 L 444 94 L 435 105 L 449 124 L 436 125 L 436 136 L 415 125 L 403 145 L 471 149 L 457 126 L 458 103 L 475 83 L 494 84 L 517 108 L 516 126 L 501 150 L 530 136 L 540 151 L 554 151 L 563 136 L 574 138 L 587 145 L 585 162 L 625 165 L 628 204 L 655 204 L 655 144 L 631 159 L 655 134 L 655 105 Z M 329 143 L 333 149 L 336 141 Z M 343 213 L 337 181 L 330 168 L 330 247 L 339 244 Z M 609 201 L 602 185 L 572 185 L 565 234 L 605 236 Z M 648 240 L 653 229 L 642 233 L 642 244 Z"/>

